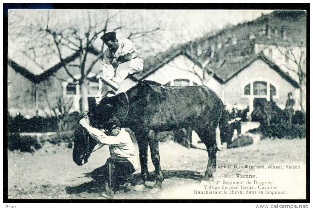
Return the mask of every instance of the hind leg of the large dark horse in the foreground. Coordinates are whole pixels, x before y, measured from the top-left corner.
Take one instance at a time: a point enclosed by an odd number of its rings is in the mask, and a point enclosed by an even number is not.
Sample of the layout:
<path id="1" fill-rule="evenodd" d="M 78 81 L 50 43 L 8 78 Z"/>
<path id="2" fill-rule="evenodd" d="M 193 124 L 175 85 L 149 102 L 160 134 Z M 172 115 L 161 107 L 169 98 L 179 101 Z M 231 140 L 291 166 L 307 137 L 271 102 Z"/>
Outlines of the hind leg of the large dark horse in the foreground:
<path id="1" fill-rule="evenodd" d="M 198 130 L 197 134 L 200 137 L 201 141 L 205 144 L 208 151 L 208 166 L 205 171 L 203 180 L 208 181 L 213 177 L 213 173 L 216 171 L 216 127 L 215 128 L 205 128 Z"/>

